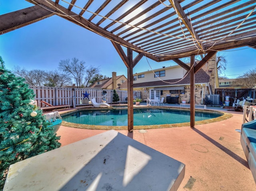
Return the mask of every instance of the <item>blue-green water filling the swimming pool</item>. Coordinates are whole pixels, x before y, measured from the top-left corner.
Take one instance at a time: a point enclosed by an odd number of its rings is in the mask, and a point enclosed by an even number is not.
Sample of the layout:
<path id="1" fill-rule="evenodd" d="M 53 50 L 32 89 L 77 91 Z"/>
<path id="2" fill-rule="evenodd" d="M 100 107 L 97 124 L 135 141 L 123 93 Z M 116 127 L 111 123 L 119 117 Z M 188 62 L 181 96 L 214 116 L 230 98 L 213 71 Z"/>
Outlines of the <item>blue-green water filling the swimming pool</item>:
<path id="1" fill-rule="evenodd" d="M 196 111 L 195 120 L 206 120 L 221 116 L 219 113 Z M 88 125 L 127 126 L 126 109 L 84 110 L 62 116 L 66 122 Z M 190 122 L 190 112 L 186 110 L 134 109 L 134 125 L 160 125 Z"/>

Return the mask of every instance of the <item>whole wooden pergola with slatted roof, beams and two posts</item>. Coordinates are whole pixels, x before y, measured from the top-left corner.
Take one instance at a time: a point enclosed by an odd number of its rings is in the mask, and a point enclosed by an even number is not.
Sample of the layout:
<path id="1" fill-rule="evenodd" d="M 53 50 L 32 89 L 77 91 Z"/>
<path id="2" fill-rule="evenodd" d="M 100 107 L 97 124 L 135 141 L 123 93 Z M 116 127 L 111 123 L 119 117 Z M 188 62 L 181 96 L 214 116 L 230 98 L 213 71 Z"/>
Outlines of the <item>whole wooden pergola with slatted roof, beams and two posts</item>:
<path id="1" fill-rule="evenodd" d="M 174 60 L 190 73 L 194 128 L 195 73 L 217 51 L 256 45 L 255 0 L 27 1 L 31 7 L 0 16 L 0 34 L 57 15 L 112 42 L 127 67 L 128 132 L 133 130 L 133 68 L 143 56 Z M 202 55 L 198 64 L 195 55 Z M 190 57 L 190 66 L 183 57 Z"/>

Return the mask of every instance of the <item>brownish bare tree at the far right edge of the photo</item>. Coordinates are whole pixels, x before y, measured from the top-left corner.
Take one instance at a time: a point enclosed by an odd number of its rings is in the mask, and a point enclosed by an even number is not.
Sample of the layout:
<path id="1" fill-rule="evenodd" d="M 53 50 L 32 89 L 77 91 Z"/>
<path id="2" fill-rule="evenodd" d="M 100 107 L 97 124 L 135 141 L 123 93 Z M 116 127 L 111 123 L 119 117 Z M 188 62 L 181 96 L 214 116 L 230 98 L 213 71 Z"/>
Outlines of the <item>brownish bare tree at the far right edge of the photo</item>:
<path id="1" fill-rule="evenodd" d="M 247 71 L 241 76 L 238 76 L 234 81 L 234 85 L 247 88 L 256 88 L 256 68 Z"/>

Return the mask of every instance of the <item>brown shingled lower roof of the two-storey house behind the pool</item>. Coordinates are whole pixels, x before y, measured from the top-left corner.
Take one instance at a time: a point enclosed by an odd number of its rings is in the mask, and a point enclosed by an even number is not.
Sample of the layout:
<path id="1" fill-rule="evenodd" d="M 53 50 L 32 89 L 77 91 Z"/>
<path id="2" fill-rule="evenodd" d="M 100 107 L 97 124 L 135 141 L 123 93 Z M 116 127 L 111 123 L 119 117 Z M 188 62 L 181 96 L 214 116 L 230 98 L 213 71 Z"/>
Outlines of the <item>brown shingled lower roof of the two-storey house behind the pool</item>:
<path id="1" fill-rule="evenodd" d="M 171 80 L 165 80 L 165 81 L 174 83 L 179 80 L 180 79 L 171 79 Z M 203 69 L 200 69 L 195 74 L 195 83 L 208 83 L 209 80 L 210 80 L 210 76 Z M 190 74 L 188 74 L 184 79 L 182 79 L 181 81 L 179 81 L 175 84 L 169 84 L 169 83 L 165 83 L 163 81 L 151 81 L 151 82 L 144 82 L 144 83 L 134 83 L 133 87 L 134 88 L 161 87 L 161 86 L 166 87 L 166 86 L 177 86 L 177 85 L 188 85 L 188 84 L 190 84 Z M 120 86 L 120 89 L 125 89 L 125 88 L 127 88 L 127 81 Z"/>

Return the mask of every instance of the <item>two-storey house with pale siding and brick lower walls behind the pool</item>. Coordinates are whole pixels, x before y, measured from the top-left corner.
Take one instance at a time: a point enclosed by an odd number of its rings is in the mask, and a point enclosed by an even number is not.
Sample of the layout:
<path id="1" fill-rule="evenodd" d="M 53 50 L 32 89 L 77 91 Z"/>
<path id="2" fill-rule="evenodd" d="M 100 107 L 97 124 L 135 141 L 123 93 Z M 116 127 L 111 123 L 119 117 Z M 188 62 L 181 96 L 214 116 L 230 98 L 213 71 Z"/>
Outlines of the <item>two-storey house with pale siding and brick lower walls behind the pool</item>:
<path id="1" fill-rule="evenodd" d="M 214 94 L 218 88 L 216 56 L 206 63 L 195 74 L 195 102 L 203 104 L 208 94 Z M 154 99 L 164 97 L 164 102 L 190 102 L 190 75 L 180 65 L 162 67 L 153 71 L 145 71 L 133 75 L 133 89 L 141 91 L 141 98 Z M 160 79 L 159 79 L 159 78 Z M 184 79 L 182 79 L 184 77 Z M 217 85 L 216 85 L 217 82 Z M 127 82 L 120 86 L 127 89 Z"/>

